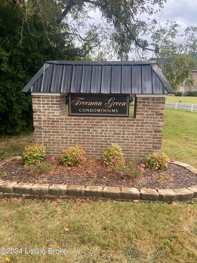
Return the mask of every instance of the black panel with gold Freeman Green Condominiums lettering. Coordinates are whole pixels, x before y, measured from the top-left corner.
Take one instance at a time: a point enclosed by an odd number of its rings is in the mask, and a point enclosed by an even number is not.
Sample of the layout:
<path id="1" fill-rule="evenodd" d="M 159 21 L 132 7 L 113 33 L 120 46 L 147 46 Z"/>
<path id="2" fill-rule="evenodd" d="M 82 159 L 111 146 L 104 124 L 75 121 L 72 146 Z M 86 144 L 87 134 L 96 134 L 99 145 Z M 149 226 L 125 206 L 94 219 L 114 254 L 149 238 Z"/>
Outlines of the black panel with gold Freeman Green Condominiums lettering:
<path id="1" fill-rule="evenodd" d="M 69 94 L 69 116 L 129 116 L 129 94 Z"/>

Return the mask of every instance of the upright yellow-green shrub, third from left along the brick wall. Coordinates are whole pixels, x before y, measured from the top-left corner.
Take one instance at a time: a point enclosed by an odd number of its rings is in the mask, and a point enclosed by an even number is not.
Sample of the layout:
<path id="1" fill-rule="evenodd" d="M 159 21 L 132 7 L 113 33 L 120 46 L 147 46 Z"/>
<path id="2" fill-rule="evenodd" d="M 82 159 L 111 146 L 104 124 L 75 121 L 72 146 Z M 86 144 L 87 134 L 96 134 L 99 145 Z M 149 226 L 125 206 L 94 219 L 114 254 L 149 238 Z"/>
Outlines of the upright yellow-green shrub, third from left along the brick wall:
<path id="1" fill-rule="evenodd" d="M 104 152 L 104 164 L 114 165 L 116 162 L 123 162 L 122 148 L 118 144 L 112 143 L 112 147 Z"/>

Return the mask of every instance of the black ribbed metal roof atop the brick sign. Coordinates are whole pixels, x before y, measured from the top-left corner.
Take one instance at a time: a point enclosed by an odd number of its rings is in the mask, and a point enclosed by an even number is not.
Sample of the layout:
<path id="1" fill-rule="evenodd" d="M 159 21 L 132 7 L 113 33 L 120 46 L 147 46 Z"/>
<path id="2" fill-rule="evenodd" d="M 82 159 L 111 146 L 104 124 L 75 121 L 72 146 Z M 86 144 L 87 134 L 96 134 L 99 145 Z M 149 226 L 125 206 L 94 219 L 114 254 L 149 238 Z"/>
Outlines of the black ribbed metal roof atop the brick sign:
<path id="1" fill-rule="evenodd" d="M 22 91 L 175 93 L 155 61 L 47 61 Z"/>

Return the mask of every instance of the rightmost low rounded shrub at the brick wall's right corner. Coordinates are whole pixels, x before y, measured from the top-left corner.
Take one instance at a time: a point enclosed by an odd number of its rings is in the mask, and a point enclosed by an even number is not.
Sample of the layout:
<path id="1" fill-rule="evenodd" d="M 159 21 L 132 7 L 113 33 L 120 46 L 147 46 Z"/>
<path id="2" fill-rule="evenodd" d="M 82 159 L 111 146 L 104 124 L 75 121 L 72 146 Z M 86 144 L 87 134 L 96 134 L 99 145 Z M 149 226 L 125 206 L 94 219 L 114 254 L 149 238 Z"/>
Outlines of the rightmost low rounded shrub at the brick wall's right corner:
<path id="1" fill-rule="evenodd" d="M 146 157 L 146 165 L 151 169 L 164 170 L 167 168 L 168 163 L 169 159 L 164 153 L 159 154 L 154 152 Z"/>

